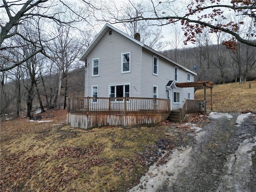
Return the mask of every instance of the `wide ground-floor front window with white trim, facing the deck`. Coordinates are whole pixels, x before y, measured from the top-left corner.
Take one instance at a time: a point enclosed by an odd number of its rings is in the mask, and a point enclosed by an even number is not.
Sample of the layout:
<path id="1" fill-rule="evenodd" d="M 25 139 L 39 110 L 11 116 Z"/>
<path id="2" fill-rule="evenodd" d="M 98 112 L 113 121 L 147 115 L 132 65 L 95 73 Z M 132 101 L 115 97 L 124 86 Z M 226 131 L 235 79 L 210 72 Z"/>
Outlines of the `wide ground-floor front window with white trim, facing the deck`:
<path id="1" fill-rule="evenodd" d="M 130 97 L 130 85 L 113 85 L 109 86 L 109 96 L 112 98 L 115 97 Z M 122 99 L 121 99 L 122 100 Z"/>

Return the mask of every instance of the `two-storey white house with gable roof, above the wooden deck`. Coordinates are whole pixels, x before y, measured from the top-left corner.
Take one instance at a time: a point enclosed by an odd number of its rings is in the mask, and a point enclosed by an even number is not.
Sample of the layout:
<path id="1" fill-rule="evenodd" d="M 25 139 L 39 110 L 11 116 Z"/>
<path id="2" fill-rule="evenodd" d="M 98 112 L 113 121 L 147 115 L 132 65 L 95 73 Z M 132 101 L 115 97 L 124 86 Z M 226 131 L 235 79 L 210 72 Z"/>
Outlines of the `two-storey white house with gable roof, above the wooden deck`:
<path id="1" fill-rule="evenodd" d="M 86 66 L 85 97 L 170 99 L 171 110 L 178 110 L 184 99 L 194 100 L 193 87 L 176 84 L 193 82 L 196 73 L 110 24 L 80 60 Z"/>

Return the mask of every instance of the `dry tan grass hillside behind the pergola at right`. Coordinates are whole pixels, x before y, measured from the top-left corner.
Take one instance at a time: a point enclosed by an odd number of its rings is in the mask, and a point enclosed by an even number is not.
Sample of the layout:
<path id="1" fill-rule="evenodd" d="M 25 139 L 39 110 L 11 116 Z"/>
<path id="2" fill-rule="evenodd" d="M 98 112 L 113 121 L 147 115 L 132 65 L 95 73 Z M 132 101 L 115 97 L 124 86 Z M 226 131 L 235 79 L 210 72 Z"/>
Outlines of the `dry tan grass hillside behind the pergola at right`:
<path id="1" fill-rule="evenodd" d="M 214 111 L 256 113 L 256 81 L 214 85 L 212 93 Z M 210 110 L 210 88 L 206 90 L 206 94 L 207 109 Z M 204 100 L 203 89 L 196 91 L 195 100 Z"/>

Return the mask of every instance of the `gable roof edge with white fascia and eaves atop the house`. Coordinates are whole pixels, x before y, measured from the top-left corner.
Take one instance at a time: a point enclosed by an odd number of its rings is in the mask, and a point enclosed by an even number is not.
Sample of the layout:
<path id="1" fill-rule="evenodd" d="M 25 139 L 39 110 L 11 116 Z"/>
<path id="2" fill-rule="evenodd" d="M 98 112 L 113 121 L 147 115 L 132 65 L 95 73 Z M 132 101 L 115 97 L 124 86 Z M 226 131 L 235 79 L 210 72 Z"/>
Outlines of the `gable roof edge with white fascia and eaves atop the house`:
<path id="1" fill-rule="evenodd" d="M 97 34 L 97 36 L 94 38 L 94 40 L 92 41 L 92 43 L 88 46 L 88 48 L 85 50 L 85 52 L 82 54 L 82 56 L 80 56 L 79 60 L 85 61 L 86 57 L 88 56 L 88 54 L 90 54 L 90 52 L 92 51 L 92 49 L 96 46 L 96 44 L 101 40 L 101 38 L 104 36 L 104 34 L 109 30 L 115 30 L 116 32 L 120 33 L 121 35 L 125 36 L 126 38 L 132 40 L 133 42 L 135 42 L 136 44 L 146 48 L 147 50 L 149 50 L 150 52 L 153 52 L 155 55 L 160 56 L 166 60 L 168 60 L 169 62 L 173 63 L 176 66 L 179 66 L 180 68 L 186 70 L 187 72 L 190 72 L 194 75 L 197 75 L 195 72 L 192 72 L 191 70 L 187 69 L 186 67 L 176 63 L 175 61 L 169 59 L 168 57 L 164 56 L 163 54 L 157 52 L 156 50 L 150 48 L 149 46 L 146 46 L 145 44 L 143 44 L 142 42 L 134 39 L 133 37 L 129 36 L 128 34 L 125 34 L 124 32 L 118 30 L 117 28 L 113 27 L 112 25 L 106 23 L 104 25 L 104 27 L 100 30 L 100 32 Z"/>

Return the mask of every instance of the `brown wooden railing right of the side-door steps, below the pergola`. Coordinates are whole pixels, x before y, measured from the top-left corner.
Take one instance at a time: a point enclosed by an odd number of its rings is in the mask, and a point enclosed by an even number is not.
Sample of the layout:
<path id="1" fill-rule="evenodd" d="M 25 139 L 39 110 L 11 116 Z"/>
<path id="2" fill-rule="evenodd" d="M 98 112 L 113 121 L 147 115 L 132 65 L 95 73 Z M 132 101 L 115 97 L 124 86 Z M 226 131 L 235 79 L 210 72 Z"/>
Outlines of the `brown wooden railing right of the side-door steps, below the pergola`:
<path id="1" fill-rule="evenodd" d="M 204 101 L 185 99 L 180 108 L 180 122 L 182 122 L 189 113 L 198 113 L 204 109 Z"/>

